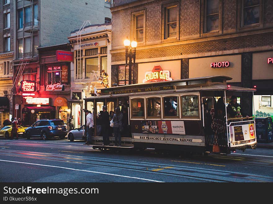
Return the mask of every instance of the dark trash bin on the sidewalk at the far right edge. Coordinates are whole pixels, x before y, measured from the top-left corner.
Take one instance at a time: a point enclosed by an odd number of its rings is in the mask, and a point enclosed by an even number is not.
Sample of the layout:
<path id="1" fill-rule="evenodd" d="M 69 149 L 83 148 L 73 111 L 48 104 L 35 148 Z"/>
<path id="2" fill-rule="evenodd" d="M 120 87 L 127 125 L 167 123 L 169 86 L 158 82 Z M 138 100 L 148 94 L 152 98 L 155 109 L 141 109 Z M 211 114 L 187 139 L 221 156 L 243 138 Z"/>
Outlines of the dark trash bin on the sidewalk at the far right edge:
<path id="1" fill-rule="evenodd" d="M 273 141 L 273 123 L 271 117 L 256 117 L 257 142 L 270 143 Z"/>

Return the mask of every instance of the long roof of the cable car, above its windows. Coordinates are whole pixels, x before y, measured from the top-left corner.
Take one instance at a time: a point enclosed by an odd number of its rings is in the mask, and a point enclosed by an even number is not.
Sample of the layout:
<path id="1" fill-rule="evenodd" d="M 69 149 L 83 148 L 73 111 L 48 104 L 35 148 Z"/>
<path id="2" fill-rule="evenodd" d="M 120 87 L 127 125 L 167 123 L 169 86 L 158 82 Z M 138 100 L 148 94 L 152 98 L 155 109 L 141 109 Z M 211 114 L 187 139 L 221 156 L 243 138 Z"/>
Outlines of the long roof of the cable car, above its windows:
<path id="1" fill-rule="evenodd" d="M 230 80 L 232 79 L 231 77 L 228 76 L 208 76 L 208 77 L 198 77 L 198 78 L 191 78 L 191 79 L 179 79 L 179 80 L 173 80 L 173 81 L 164 81 L 164 82 L 154 82 L 154 83 L 149 83 L 150 87 L 160 87 L 160 86 L 172 86 L 175 84 L 179 84 L 181 82 L 187 82 L 187 81 L 195 81 L 195 80 L 203 80 L 203 79 L 223 79 L 223 80 Z M 176 94 L 176 93 L 189 93 L 189 92 L 198 92 L 198 91 L 256 91 L 256 89 L 253 88 L 244 88 L 244 87 L 238 87 L 238 86 L 227 86 L 226 83 L 222 83 L 222 84 L 203 84 L 203 85 L 198 85 L 196 84 L 196 87 L 193 86 L 179 86 L 176 87 L 174 89 L 168 89 L 168 90 L 159 90 L 156 91 L 156 93 L 154 91 L 146 91 L 146 92 L 135 92 L 135 93 L 121 93 L 121 94 L 111 94 L 113 91 L 115 91 L 115 89 L 117 88 L 121 88 L 123 90 L 132 90 L 135 89 L 139 86 L 143 86 L 143 85 L 149 85 L 149 84 L 131 84 L 131 85 L 124 85 L 124 86 L 119 86 L 119 87 L 111 87 L 111 88 L 104 88 L 101 90 L 104 90 L 104 92 L 109 90 L 110 94 L 104 94 L 101 96 L 92 96 L 92 97 L 88 97 L 85 98 L 86 99 L 95 99 L 95 98 L 108 98 L 108 97 L 119 97 L 119 96 L 138 96 L 138 95 L 153 95 L 153 94 Z"/>

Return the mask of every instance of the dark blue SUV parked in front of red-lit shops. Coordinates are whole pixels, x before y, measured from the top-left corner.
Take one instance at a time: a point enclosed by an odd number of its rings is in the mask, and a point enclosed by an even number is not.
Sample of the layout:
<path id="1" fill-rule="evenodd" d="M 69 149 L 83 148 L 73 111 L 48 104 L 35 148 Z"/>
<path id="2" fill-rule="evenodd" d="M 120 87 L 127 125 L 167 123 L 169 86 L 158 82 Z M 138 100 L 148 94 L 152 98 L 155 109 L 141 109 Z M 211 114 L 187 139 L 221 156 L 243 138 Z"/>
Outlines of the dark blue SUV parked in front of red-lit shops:
<path id="1" fill-rule="evenodd" d="M 42 137 L 43 140 L 52 137 L 65 138 L 67 135 L 66 125 L 59 119 L 42 119 L 25 129 L 27 139 L 31 137 Z"/>

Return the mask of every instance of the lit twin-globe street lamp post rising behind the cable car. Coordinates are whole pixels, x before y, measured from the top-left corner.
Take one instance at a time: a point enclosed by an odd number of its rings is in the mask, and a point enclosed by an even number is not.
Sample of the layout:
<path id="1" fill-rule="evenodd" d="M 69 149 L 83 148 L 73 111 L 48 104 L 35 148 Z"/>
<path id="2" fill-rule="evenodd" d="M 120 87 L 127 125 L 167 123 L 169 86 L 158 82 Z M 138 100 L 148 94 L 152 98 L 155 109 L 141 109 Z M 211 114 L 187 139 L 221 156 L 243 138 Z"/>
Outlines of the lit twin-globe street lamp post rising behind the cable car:
<path id="1" fill-rule="evenodd" d="M 129 84 L 132 84 L 132 60 L 135 67 L 136 64 L 136 48 L 137 42 L 133 40 L 132 42 L 128 39 L 124 40 L 125 46 L 125 85 L 126 85 L 126 66 L 129 58 Z"/>

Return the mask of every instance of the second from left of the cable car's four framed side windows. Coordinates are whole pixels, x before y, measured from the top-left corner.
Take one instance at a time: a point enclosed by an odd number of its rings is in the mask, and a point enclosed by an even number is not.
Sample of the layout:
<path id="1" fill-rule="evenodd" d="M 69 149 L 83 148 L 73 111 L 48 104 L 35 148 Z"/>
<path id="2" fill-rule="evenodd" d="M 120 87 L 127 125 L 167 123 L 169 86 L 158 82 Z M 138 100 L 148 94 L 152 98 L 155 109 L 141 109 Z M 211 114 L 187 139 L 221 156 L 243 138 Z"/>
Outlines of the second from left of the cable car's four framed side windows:
<path id="1" fill-rule="evenodd" d="M 159 97 L 147 98 L 147 117 L 161 118 L 161 100 Z"/>

